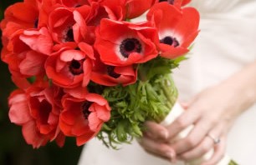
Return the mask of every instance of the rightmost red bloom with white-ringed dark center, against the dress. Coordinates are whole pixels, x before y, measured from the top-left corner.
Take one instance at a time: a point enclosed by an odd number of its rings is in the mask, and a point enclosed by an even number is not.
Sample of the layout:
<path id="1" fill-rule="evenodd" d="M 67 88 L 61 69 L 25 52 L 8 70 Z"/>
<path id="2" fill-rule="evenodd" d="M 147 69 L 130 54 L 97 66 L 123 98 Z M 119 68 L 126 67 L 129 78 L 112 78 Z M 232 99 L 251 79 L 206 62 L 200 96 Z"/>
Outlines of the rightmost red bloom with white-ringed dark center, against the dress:
<path id="1" fill-rule="evenodd" d="M 192 7 L 180 10 L 167 2 L 161 2 L 151 7 L 147 19 L 151 20 L 159 31 L 159 49 L 162 57 L 174 58 L 187 53 L 187 47 L 199 32 L 199 13 Z"/>

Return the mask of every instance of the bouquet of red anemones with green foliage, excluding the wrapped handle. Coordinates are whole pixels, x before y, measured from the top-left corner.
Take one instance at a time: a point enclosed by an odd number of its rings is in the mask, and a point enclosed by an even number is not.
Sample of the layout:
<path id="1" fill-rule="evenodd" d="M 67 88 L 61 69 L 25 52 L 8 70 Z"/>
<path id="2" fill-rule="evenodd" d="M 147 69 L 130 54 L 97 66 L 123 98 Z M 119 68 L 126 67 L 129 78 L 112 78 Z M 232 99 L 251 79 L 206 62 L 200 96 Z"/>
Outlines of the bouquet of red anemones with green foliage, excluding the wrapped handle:
<path id="1" fill-rule="evenodd" d="M 5 11 L 2 60 L 18 89 L 9 117 L 33 148 L 65 137 L 140 137 L 176 102 L 170 77 L 197 37 L 182 0 L 24 0 Z M 145 20 L 134 22 L 146 13 Z M 106 135 L 106 136 L 105 136 Z"/>

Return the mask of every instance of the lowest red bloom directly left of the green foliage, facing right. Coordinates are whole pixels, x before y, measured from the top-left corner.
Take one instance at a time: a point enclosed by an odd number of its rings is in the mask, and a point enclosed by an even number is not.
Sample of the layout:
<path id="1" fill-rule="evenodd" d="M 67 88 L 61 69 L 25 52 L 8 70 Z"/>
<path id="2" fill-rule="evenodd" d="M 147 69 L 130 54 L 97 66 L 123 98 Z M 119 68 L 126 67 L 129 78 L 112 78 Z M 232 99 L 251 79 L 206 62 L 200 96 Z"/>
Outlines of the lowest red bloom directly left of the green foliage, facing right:
<path id="1" fill-rule="evenodd" d="M 59 127 L 66 136 L 75 137 L 78 146 L 94 138 L 102 124 L 110 119 L 110 106 L 98 94 L 84 92 L 79 97 L 67 94 L 63 107 Z"/>

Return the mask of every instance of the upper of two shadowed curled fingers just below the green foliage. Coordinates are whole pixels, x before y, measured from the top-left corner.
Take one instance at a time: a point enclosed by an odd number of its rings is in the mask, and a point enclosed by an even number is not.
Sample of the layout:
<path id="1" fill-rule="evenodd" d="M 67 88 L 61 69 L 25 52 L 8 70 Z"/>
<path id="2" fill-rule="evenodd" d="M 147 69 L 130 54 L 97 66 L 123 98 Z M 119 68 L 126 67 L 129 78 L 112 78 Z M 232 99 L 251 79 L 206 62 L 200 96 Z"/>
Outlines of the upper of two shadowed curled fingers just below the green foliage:
<path id="1" fill-rule="evenodd" d="M 150 138 L 158 140 L 166 140 L 168 137 L 168 131 L 165 127 L 161 126 L 156 122 L 145 122 L 146 126 L 146 135 Z"/>

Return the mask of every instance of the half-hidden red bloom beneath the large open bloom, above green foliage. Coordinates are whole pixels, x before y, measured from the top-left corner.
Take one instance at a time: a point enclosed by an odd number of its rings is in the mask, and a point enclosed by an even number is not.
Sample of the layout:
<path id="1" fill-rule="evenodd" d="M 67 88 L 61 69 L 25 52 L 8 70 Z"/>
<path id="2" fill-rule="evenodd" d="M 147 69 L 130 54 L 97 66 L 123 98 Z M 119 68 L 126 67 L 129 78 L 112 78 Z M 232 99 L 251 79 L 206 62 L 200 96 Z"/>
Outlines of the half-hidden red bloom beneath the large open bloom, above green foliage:
<path id="1" fill-rule="evenodd" d="M 125 67 L 108 66 L 101 62 L 99 57 L 95 60 L 91 80 L 105 86 L 115 86 L 118 84 L 126 86 L 136 82 L 137 69 L 133 65 Z"/>

